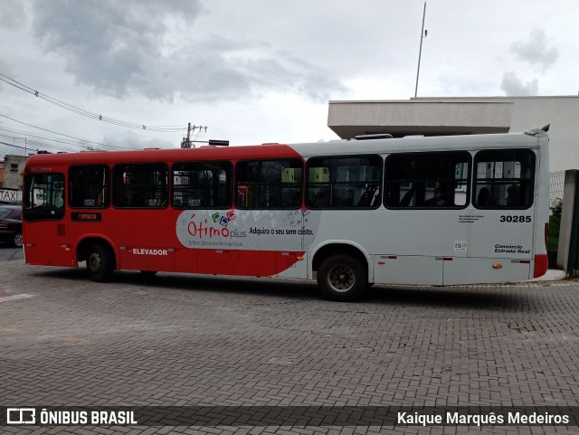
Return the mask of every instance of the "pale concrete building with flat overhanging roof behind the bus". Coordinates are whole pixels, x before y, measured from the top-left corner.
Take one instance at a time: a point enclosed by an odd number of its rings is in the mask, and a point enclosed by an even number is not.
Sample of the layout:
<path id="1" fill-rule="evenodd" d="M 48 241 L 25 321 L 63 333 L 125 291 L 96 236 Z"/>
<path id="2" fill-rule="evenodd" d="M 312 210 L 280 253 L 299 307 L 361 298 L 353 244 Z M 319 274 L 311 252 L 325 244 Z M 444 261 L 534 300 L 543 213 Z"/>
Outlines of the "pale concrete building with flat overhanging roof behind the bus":
<path id="1" fill-rule="evenodd" d="M 390 133 L 506 133 L 550 124 L 550 171 L 579 168 L 579 96 L 330 101 L 327 127 L 342 138 Z"/>

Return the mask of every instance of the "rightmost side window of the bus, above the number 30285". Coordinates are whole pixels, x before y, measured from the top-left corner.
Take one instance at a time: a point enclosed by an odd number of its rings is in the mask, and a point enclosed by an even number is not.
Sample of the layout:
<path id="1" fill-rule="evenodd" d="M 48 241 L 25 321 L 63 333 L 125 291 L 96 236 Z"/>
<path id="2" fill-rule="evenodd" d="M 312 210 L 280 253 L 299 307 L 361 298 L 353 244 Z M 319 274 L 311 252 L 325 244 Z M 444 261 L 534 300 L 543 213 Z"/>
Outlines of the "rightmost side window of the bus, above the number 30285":
<path id="1" fill-rule="evenodd" d="M 479 151 L 475 168 L 475 207 L 527 209 L 533 204 L 535 153 L 531 150 Z"/>

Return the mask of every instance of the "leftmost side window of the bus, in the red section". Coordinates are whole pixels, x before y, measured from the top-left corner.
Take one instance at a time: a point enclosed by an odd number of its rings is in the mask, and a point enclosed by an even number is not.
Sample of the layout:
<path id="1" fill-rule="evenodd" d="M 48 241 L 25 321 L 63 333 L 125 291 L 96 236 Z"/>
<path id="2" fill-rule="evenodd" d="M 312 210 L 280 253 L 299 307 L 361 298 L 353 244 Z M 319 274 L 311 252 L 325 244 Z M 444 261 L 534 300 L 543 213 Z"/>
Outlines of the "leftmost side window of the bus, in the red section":
<path id="1" fill-rule="evenodd" d="M 64 216 L 64 174 L 28 174 L 24 178 L 24 219 L 51 221 Z"/>

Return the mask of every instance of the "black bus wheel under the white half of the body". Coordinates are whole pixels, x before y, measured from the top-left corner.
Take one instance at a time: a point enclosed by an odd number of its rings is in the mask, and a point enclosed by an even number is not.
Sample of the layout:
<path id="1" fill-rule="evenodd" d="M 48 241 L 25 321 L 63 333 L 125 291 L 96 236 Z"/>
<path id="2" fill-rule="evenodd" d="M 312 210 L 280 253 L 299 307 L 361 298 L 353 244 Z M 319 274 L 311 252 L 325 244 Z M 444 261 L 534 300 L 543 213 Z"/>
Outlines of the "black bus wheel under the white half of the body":
<path id="1" fill-rule="evenodd" d="M 368 287 L 365 267 L 350 255 L 337 254 L 328 257 L 319 267 L 318 287 L 326 298 L 337 301 L 356 300 Z"/>

